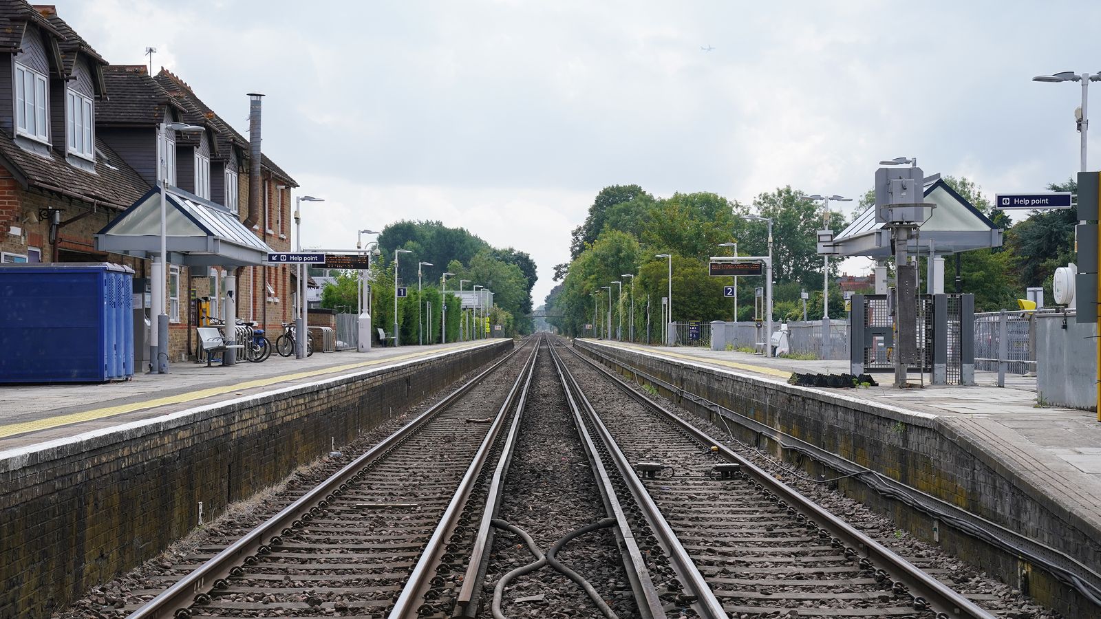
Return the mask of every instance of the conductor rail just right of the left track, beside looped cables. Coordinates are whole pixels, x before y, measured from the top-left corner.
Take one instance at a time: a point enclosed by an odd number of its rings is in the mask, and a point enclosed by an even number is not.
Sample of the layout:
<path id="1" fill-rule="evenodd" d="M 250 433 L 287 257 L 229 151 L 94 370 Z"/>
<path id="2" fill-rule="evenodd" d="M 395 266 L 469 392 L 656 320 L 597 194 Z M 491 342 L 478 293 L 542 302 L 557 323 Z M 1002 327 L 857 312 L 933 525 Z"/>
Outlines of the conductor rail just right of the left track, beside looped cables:
<path id="1" fill-rule="evenodd" d="M 538 356 L 542 345 L 542 337 L 537 337 L 534 356 Z M 481 522 L 478 525 L 478 535 L 475 537 L 475 546 L 470 552 L 470 562 L 467 564 L 466 576 L 462 578 L 462 587 L 459 589 L 459 597 L 456 601 L 459 616 L 461 617 L 473 617 L 478 612 L 477 596 L 481 591 L 481 582 L 486 574 L 489 549 L 493 545 L 493 526 L 491 521 L 497 518 L 498 510 L 500 509 L 501 496 L 504 492 L 505 476 L 509 471 L 509 465 L 512 464 L 512 454 L 515 450 L 516 439 L 520 436 L 520 423 L 523 419 L 524 406 L 527 404 L 527 391 L 532 382 L 532 376 L 535 373 L 534 369 L 535 363 L 533 362 L 533 371 L 527 374 L 524 390 L 520 394 L 520 401 L 516 402 L 516 411 L 512 415 L 512 426 L 505 436 L 501 456 L 498 459 L 497 468 L 493 470 L 493 479 L 490 482 L 486 507 L 482 510 Z"/>

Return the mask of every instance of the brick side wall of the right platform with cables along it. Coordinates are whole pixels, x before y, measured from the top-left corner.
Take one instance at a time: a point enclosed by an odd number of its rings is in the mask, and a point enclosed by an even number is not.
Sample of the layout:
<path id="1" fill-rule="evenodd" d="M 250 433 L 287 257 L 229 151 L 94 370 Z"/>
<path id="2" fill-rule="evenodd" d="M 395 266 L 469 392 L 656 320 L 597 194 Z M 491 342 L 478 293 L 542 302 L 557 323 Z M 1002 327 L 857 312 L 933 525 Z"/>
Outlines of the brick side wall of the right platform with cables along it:
<path id="1" fill-rule="evenodd" d="M 1101 568 L 1101 530 L 1069 513 L 999 461 L 980 436 L 947 420 L 582 340 L 575 340 L 574 346 L 633 380 L 644 381 L 606 357 L 1056 547 L 1094 571 Z M 659 384 L 654 387 L 684 409 L 723 426 L 715 411 Z M 767 436 L 737 423 L 727 425 L 739 441 L 765 448 L 810 475 L 830 478 L 838 474 Z M 873 510 L 889 513 L 900 529 L 938 543 L 1068 617 L 1095 616 L 1097 608 L 1090 601 L 1039 567 L 945 523 L 935 534 L 929 515 L 879 495 L 859 480 L 842 479 L 839 489 Z M 939 541 L 935 542 L 935 536 Z"/>

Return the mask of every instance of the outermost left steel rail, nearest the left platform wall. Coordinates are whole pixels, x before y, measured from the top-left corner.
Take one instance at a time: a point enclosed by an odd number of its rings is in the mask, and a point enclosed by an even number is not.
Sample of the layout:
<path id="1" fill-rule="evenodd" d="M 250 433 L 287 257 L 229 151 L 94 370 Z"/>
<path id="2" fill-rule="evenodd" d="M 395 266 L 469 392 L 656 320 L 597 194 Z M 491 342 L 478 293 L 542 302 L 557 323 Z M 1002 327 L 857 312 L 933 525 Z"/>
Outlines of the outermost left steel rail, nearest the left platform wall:
<path id="1" fill-rule="evenodd" d="M 386 455 L 391 449 L 419 431 L 421 426 L 447 410 L 520 350 L 521 348 L 512 350 L 504 358 L 470 379 L 466 384 L 447 394 L 443 400 L 417 415 L 416 419 L 333 474 L 333 476 L 320 485 L 283 508 L 279 513 L 269 518 L 252 531 L 249 531 L 240 540 L 233 542 L 226 550 L 196 567 L 155 598 L 143 604 L 130 613 L 129 619 L 189 617 L 190 611 L 188 608 L 197 601 L 196 598 L 206 596 L 212 588 L 227 586 L 226 578 L 238 573 L 242 564 L 252 565 L 257 561 L 257 555 L 269 554 L 271 546 L 281 542 L 281 535 L 291 532 L 292 529 L 298 528 L 304 522 L 308 522 L 323 513 L 335 497 L 347 490 L 349 481 L 362 478 L 364 467 Z"/>

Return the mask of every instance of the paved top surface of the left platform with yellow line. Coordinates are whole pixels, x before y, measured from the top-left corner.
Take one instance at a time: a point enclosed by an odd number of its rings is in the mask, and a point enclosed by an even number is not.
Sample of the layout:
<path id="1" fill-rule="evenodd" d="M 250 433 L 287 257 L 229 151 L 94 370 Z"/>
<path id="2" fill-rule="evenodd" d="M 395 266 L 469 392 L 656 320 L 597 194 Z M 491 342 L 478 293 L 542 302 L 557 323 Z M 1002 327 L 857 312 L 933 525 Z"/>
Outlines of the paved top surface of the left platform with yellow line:
<path id="1" fill-rule="evenodd" d="M 167 374 L 137 374 L 101 384 L 0 385 L 0 452 L 492 341 L 500 340 L 315 352 L 305 359 L 272 355 L 260 363 L 215 362 L 209 368 L 186 361 L 173 363 Z"/>

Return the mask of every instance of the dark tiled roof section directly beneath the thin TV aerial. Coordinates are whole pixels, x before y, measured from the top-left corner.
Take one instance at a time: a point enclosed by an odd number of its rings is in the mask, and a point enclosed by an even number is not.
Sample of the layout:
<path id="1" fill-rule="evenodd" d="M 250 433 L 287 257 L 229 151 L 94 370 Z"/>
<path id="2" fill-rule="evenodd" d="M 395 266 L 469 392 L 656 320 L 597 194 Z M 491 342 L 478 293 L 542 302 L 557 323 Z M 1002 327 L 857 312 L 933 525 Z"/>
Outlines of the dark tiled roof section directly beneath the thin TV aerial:
<path id="1" fill-rule="evenodd" d="M 103 83 L 107 96 L 96 104 L 96 124 L 153 127 L 164 119 L 165 105 L 186 113 L 150 77 L 145 65 L 108 65 L 103 67 Z"/>

